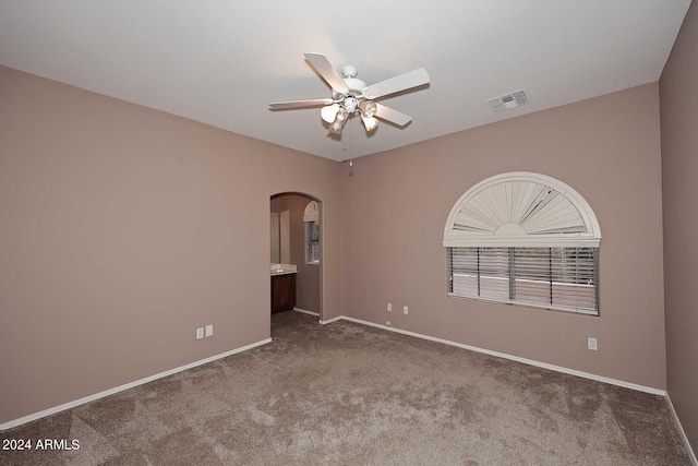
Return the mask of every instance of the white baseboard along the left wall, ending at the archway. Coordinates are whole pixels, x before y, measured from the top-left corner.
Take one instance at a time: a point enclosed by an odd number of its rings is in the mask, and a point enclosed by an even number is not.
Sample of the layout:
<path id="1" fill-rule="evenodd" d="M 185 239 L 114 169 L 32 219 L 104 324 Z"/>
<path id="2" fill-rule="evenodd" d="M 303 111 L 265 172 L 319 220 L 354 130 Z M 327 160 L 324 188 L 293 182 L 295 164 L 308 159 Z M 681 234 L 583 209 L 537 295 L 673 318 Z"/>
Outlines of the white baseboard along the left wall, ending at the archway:
<path id="1" fill-rule="evenodd" d="M 185 366 L 180 366 L 178 368 L 170 369 L 168 371 L 160 372 L 155 375 L 149 375 L 149 377 L 146 377 L 145 379 L 140 379 L 134 382 L 116 386 L 113 389 L 105 390 L 104 392 L 95 393 L 94 395 L 85 396 L 83 398 L 64 403 L 62 405 L 55 406 L 52 408 L 44 409 L 41 411 L 34 413 L 32 415 L 23 416 L 19 419 L 14 419 L 9 422 L 1 423 L 0 430 L 8 430 L 10 428 L 21 426 L 26 422 L 31 422 L 33 420 L 53 415 L 56 413 L 64 411 L 65 409 L 74 408 L 75 406 L 84 405 L 85 403 L 94 402 L 95 399 L 104 398 L 105 396 L 113 395 L 115 393 L 123 392 L 124 390 L 133 389 L 134 386 L 143 385 L 144 383 L 148 383 L 157 379 L 163 379 L 164 377 L 168 377 L 168 375 L 176 374 L 178 372 L 185 371 L 186 369 L 195 368 L 196 366 L 202 366 L 208 362 L 213 362 L 217 359 L 222 359 L 225 357 L 228 357 L 238 353 L 246 351 L 248 349 L 252 349 L 257 346 L 266 345 L 267 343 L 270 343 L 270 342 L 272 342 L 272 338 L 266 338 L 256 343 L 252 343 L 246 346 L 242 346 L 240 348 L 231 349 L 230 351 L 221 353 L 220 355 L 212 356 L 206 359 L 201 359 L 198 361 L 194 361 Z"/>

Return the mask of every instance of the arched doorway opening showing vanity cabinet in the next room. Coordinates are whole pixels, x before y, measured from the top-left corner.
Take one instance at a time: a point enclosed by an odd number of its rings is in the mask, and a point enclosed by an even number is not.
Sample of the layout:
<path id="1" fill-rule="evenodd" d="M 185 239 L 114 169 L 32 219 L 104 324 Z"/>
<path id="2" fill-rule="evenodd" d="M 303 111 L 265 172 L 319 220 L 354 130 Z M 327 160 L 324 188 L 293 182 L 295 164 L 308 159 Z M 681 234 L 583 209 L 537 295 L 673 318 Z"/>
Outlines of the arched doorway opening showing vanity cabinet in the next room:
<path id="1" fill-rule="evenodd" d="M 322 205 L 302 192 L 269 199 L 272 314 L 299 311 L 323 319 Z"/>

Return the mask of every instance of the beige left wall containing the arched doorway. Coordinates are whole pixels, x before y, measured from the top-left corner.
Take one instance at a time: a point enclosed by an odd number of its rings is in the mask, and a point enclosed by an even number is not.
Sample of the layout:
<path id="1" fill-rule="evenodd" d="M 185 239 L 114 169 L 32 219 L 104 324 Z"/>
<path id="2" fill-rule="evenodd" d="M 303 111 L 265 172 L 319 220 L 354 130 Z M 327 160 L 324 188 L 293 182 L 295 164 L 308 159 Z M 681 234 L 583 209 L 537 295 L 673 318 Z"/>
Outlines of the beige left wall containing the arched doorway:
<path id="1" fill-rule="evenodd" d="M 267 338 L 279 192 L 341 313 L 338 164 L 7 68 L 0 105 L 0 423 Z"/>

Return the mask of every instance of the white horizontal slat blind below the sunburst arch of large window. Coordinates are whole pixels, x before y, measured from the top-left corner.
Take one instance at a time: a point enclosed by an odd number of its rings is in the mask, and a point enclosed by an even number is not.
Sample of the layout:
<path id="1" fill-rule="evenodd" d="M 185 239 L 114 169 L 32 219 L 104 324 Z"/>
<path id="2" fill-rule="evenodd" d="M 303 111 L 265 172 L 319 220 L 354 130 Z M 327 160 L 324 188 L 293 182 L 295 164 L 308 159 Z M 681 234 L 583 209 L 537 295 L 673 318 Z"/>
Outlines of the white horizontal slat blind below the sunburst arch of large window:
<path id="1" fill-rule="evenodd" d="M 455 296 L 599 314 L 598 248 L 448 248 Z"/>

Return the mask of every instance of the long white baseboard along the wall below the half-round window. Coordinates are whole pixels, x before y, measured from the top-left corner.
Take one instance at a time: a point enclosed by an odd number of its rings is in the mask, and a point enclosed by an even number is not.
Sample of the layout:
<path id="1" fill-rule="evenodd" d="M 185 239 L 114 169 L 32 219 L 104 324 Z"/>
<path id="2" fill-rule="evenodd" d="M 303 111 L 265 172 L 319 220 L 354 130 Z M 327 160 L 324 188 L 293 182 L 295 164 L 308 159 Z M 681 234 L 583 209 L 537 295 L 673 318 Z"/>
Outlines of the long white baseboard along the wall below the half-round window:
<path id="1" fill-rule="evenodd" d="M 567 374 L 570 374 L 570 375 L 581 377 L 581 378 L 585 378 L 585 379 L 595 380 L 595 381 L 599 381 L 599 382 L 610 383 L 611 385 L 624 386 L 626 389 L 637 390 L 639 392 L 651 393 L 653 395 L 666 396 L 666 391 L 665 390 L 659 390 L 659 389 L 653 389 L 651 386 L 638 385 L 636 383 L 630 383 L 630 382 L 625 382 L 625 381 L 622 381 L 622 380 L 611 379 L 611 378 L 603 377 L 603 375 L 597 375 L 597 374 L 592 374 L 592 373 L 589 373 L 589 372 L 582 372 L 582 371 L 578 371 L 578 370 L 575 370 L 575 369 L 563 368 L 561 366 L 549 365 L 546 362 L 540 362 L 540 361 L 535 361 L 533 359 L 520 358 L 518 356 L 507 355 L 506 353 L 493 351 L 491 349 L 484 349 L 484 348 L 479 348 L 477 346 L 465 345 L 462 343 L 452 342 L 449 339 L 436 338 L 434 336 L 429 336 L 429 335 L 423 335 L 421 333 L 416 333 L 416 332 L 410 332 L 410 331 L 407 331 L 407 330 L 396 328 L 394 326 L 376 324 L 374 322 L 363 321 L 361 319 L 349 318 L 349 316 L 346 316 L 346 315 L 339 315 L 338 318 L 335 318 L 335 319 L 333 319 L 330 321 L 321 322 L 321 323 L 330 323 L 330 322 L 338 321 L 340 319 L 349 321 L 349 322 L 354 322 L 354 323 L 358 323 L 358 324 L 363 324 L 363 325 L 374 326 L 374 327 L 377 327 L 377 328 L 387 330 L 389 332 L 401 333 L 402 335 L 409 335 L 409 336 L 414 336 L 417 338 L 429 339 L 430 342 L 443 343 L 444 345 L 456 346 L 458 348 L 469 349 L 471 351 L 483 353 L 485 355 L 496 356 L 497 358 L 509 359 L 509 360 L 513 360 L 513 361 L 522 362 L 525 365 L 535 366 L 535 367 L 543 368 L 543 369 L 549 369 L 549 370 L 552 370 L 552 371 L 555 371 L 555 372 L 562 372 L 562 373 L 567 373 Z"/>

